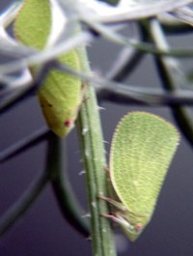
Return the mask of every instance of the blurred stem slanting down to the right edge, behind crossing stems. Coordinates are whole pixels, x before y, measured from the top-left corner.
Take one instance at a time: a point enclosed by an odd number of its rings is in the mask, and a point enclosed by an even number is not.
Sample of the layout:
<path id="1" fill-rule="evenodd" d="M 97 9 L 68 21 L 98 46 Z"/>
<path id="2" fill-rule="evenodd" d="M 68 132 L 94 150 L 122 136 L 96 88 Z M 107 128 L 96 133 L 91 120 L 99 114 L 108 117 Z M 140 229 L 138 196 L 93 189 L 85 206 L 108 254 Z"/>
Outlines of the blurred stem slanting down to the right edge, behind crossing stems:
<path id="1" fill-rule="evenodd" d="M 169 45 L 165 40 L 160 24 L 156 19 L 152 19 L 150 31 L 152 40 L 158 49 L 169 50 Z M 169 92 L 178 92 L 178 89 L 185 84 L 187 80 L 185 75 L 179 69 L 179 63 L 172 57 L 156 57 L 156 64 L 160 73 L 163 87 Z M 179 125 L 180 130 L 188 142 L 193 146 L 193 121 L 190 110 L 180 104 L 171 107 L 173 115 Z"/>

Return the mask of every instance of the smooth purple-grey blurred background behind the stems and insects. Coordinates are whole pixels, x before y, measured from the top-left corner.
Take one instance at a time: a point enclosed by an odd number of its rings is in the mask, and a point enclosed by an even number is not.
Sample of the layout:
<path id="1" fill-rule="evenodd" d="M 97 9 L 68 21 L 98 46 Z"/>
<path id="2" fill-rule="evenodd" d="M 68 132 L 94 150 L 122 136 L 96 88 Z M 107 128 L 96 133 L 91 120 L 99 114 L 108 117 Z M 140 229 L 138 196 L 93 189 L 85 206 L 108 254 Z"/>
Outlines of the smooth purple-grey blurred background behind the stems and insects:
<path id="1" fill-rule="evenodd" d="M 3 10 L 12 1 L 1 0 Z M 185 47 L 192 37 L 170 37 L 170 42 Z M 88 46 L 89 59 L 94 71 L 105 73 L 119 51 L 113 43 L 98 39 Z M 2 57 L 1 62 L 5 61 Z M 184 63 L 184 69 L 191 62 Z M 152 57 L 144 58 L 140 67 L 126 81 L 129 84 L 159 86 Z M 113 130 L 123 115 L 132 110 L 153 112 L 175 124 L 168 107 L 142 107 L 101 102 L 100 111 L 107 158 Z M 44 120 L 35 97 L 16 105 L 1 115 L 1 151 L 32 131 L 41 128 Z M 76 130 L 70 132 L 68 142 L 68 171 L 78 200 L 87 213 L 83 166 L 80 163 Z M 43 170 L 45 143 L 15 156 L 1 164 L 0 214 L 5 213 L 31 181 Z M 193 255 L 193 157 L 189 144 L 181 135 L 179 150 L 171 168 L 152 221 L 137 242 L 130 243 L 117 230 L 115 238 L 119 256 L 192 256 Z M 63 218 L 50 185 L 46 186 L 33 207 L 0 239 L 0 256 L 79 256 L 92 255 L 91 242 L 78 234 Z"/>

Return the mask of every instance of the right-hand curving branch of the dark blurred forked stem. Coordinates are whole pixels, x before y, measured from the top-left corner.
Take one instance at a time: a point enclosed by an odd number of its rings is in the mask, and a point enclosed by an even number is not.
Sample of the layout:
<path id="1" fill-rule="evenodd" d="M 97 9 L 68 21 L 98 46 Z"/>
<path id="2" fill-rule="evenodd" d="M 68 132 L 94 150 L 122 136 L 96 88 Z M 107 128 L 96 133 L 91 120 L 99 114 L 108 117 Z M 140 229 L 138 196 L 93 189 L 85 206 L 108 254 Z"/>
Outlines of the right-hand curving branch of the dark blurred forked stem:
<path id="1" fill-rule="evenodd" d="M 88 238 L 90 235 L 88 222 L 82 218 L 83 213 L 69 183 L 64 157 L 65 142 L 53 133 L 50 139 L 52 149 L 49 168 L 53 173 L 51 184 L 61 213 L 78 232 Z"/>

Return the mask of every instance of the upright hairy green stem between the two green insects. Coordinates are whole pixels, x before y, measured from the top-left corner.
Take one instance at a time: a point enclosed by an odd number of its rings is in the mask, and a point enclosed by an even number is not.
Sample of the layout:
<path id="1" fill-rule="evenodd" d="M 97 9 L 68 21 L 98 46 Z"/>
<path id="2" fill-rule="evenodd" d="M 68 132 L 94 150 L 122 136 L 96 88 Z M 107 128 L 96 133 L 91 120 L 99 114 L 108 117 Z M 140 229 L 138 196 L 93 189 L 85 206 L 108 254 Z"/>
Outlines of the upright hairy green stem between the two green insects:
<path id="1" fill-rule="evenodd" d="M 89 73 L 84 49 L 79 49 L 79 56 L 82 71 Z M 85 99 L 77 120 L 77 128 L 86 169 L 93 251 L 97 256 L 115 256 L 116 250 L 109 220 L 101 216 L 109 210 L 106 202 L 98 199 L 98 195 L 108 194 L 106 162 L 96 93 L 90 85 L 87 87 Z"/>

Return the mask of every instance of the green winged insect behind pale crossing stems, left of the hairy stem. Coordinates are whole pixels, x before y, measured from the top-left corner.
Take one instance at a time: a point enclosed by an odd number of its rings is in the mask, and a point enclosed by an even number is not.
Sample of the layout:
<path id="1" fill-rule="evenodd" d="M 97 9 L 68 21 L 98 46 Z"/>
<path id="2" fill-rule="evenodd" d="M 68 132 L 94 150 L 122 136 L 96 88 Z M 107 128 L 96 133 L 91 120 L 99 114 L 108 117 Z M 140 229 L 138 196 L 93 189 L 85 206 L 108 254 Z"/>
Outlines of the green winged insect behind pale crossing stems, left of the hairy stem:
<path id="1" fill-rule="evenodd" d="M 16 39 L 39 50 L 46 47 L 52 32 L 52 7 L 49 0 L 26 0 L 14 21 Z M 76 50 L 69 51 L 57 60 L 71 69 L 80 70 Z M 35 75 L 38 68 L 32 67 L 30 71 Z M 48 127 L 59 136 L 67 135 L 82 102 L 81 80 L 53 69 L 43 80 L 38 98 Z"/>

